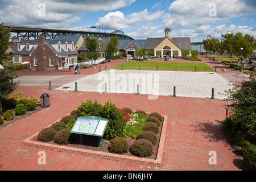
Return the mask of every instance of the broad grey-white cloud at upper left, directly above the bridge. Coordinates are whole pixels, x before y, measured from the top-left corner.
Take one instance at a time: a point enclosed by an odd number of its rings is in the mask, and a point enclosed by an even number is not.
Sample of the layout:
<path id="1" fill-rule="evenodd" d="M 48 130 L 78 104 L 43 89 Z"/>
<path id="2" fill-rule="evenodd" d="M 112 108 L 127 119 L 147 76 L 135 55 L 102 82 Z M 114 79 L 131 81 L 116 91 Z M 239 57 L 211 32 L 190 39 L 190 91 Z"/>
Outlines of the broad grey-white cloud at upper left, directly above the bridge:
<path id="1" fill-rule="evenodd" d="M 112 11 L 121 7 L 126 7 L 136 0 L 3 0 L 0 6 L 0 21 L 10 24 L 43 25 L 52 27 L 68 27 L 71 23 L 81 20 L 78 15 L 84 11 Z M 40 7 L 46 5 L 46 16 L 39 16 Z M 74 18 L 75 17 L 75 18 Z"/>

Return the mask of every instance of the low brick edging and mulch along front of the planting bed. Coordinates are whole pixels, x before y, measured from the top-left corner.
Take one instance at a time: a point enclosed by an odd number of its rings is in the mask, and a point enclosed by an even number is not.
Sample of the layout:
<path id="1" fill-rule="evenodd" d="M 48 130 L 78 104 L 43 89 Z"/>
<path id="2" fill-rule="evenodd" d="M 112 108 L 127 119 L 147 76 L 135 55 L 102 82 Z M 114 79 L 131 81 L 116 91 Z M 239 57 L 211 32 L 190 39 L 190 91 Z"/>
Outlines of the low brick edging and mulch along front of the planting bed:
<path id="1" fill-rule="evenodd" d="M 60 119 L 56 122 L 59 122 L 59 121 Z M 146 166 L 160 167 L 160 164 L 162 163 L 162 156 L 164 153 L 164 139 L 166 136 L 167 121 L 168 121 L 168 117 L 163 116 L 163 121 L 160 122 L 160 126 L 159 126 L 159 133 L 156 134 L 157 143 L 154 145 L 153 153 L 152 155 L 144 158 L 139 158 L 131 154 L 130 151 L 122 155 L 112 154 L 108 150 L 110 141 L 102 139 L 103 146 L 97 147 L 95 146 L 94 143 L 89 142 L 90 139 L 92 139 L 92 137 L 89 135 L 84 135 L 85 144 L 79 144 L 79 140 L 77 139 L 74 142 L 69 143 L 67 145 L 59 145 L 53 142 L 53 140 L 49 142 L 38 141 L 37 138 L 38 138 L 38 134 L 40 133 L 39 131 L 38 133 L 32 135 L 31 137 L 23 140 L 22 144 L 24 146 L 44 148 L 46 150 L 55 150 L 55 151 L 68 152 L 68 153 L 77 154 L 77 155 L 93 156 L 97 158 L 104 158 L 104 159 L 110 159 L 110 160 L 138 163 Z M 126 137 L 126 139 L 129 141 L 130 147 L 131 147 L 131 144 L 136 140 L 130 137 Z"/>

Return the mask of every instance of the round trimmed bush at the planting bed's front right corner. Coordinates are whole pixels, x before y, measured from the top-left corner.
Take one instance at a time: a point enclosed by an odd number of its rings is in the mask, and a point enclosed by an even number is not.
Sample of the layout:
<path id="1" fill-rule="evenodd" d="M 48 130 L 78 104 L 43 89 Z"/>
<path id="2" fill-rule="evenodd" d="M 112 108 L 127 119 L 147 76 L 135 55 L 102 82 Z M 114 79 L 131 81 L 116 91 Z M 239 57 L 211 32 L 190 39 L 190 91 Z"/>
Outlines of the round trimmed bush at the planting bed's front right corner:
<path id="1" fill-rule="evenodd" d="M 130 151 L 139 157 L 150 156 L 153 152 L 153 144 L 150 140 L 138 139 L 131 145 Z"/>

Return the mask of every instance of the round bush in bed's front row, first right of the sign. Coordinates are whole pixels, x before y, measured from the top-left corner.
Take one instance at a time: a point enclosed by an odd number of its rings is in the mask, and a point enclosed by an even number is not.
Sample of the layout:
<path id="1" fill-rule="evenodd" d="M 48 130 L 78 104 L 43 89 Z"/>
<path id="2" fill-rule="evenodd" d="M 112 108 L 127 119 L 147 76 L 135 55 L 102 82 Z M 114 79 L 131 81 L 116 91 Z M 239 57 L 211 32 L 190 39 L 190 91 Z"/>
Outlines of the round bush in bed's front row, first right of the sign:
<path id="1" fill-rule="evenodd" d="M 117 137 L 110 142 L 108 150 L 114 154 L 123 154 L 128 151 L 129 147 L 129 142 L 126 138 Z"/>

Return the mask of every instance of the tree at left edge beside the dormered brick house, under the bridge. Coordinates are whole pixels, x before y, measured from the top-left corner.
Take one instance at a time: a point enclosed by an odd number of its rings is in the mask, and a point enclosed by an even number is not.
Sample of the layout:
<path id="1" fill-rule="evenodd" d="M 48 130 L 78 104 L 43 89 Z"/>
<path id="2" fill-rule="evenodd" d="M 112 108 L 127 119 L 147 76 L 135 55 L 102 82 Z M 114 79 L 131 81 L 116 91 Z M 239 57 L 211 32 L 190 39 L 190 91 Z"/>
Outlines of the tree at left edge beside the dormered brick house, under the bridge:
<path id="1" fill-rule="evenodd" d="M 10 28 L 3 28 L 3 23 L 0 24 L 0 64 L 10 60 L 10 56 L 6 53 L 8 47 L 13 43 L 10 41 Z"/>

